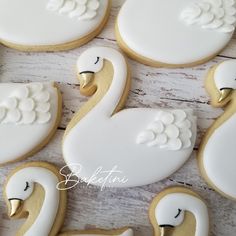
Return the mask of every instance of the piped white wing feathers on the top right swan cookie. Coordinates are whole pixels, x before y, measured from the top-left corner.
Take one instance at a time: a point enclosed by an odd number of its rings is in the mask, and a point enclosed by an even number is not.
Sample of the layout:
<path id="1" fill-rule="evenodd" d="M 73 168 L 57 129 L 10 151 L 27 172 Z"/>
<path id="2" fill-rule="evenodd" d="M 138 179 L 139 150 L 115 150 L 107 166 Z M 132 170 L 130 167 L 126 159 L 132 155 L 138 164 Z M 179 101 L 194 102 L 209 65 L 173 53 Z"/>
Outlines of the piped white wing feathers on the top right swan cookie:
<path id="1" fill-rule="evenodd" d="M 188 25 L 221 33 L 232 33 L 236 25 L 235 0 L 202 0 L 185 8 L 181 18 Z"/>

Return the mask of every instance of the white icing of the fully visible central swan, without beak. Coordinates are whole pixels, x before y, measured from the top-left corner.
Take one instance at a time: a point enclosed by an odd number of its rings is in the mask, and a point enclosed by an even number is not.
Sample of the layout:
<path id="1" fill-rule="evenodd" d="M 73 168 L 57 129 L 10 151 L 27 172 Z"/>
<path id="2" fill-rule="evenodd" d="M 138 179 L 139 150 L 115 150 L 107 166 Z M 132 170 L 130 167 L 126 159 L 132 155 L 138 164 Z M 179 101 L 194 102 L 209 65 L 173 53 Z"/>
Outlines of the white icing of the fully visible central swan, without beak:
<path id="1" fill-rule="evenodd" d="M 98 58 L 99 62 L 95 63 Z M 78 70 L 99 72 L 103 68 L 103 60 L 108 60 L 113 65 L 112 84 L 102 100 L 65 136 L 63 156 L 66 163 L 69 166 L 75 163 L 82 165 L 78 174 L 82 179 L 91 177 L 98 167 L 108 171 L 117 166 L 122 173 L 116 176 L 125 176 L 128 181 L 107 183 L 114 187 L 145 185 L 168 177 L 185 163 L 193 150 L 196 138 L 195 116 L 187 110 L 161 108 L 125 109 L 112 115 L 127 82 L 127 65 L 122 54 L 111 48 L 91 48 L 80 56 Z M 155 119 L 158 114 L 164 114 L 163 117 L 160 116 L 163 123 L 159 122 L 156 127 Z M 150 125 L 155 134 L 151 131 L 151 134 L 141 137 L 141 132 Z M 173 144 L 166 148 L 161 148 L 158 144 L 153 147 L 142 144 L 153 139 L 162 129 L 163 134 L 175 137 Z M 178 139 L 180 136 L 181 139 Z M 178 141 L 181 143 L 178 144 Z"/>

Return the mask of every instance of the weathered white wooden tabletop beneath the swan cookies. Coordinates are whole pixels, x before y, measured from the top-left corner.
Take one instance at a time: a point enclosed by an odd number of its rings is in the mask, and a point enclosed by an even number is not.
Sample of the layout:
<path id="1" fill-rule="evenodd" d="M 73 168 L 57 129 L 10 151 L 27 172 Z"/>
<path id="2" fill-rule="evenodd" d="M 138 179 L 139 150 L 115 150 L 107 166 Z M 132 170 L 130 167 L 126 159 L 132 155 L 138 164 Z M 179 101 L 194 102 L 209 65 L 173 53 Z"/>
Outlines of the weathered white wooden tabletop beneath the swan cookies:
<path id="1" fill-rule="evenodd" d="M 85 102 L 80 95 L 76 79 L 76 60 L 80 53 L 91 46 L 102 45 L 117 48 L 114 23 L 124 0 L 113 0 L 111 17 L 105 30 L 91 43 L 68 52 L 23 53 L 0 46 L 0 82 L 30 82 L 54 80 L 63 93 L 64 107 L 60 127 L 53 140 L 38 154 L 26 161 L 49 161 L 64 165 L 61 140 L 66 125 L 75 111 Z M 128 107 L 175 107 L 195 109 L 198 116 L 198 141 L 188 163 L 166 180 L 149 186 L 132 189 L 106 189 L 101 192 L 85 185 L 69 191 L 68 211 L 64 229 L 118 228 L 131 226 L 137 236 L 152 235 L 148 220 L 148 207 L 152 198 L 167 186 L 187 186 L 200 193 L 207 201 L 211 217 L 211 236 L 236 235 L 236 202 L 227 200 L 209 188 L 199 176 L 196 151 L 199 139 L 220 109 L 209 105 L 204 89 L 204 76 L 215 63 L 236 58 L 236 34 L 227 49 L 211 62 L 188 69 L 155 69 L 129 60 L 133 85 Z M 20 163 L 0 168 L 0 235 L 14 235 L 22 221 L 10 221 L 3 202 L 2 188 L 5 177 Z"/>

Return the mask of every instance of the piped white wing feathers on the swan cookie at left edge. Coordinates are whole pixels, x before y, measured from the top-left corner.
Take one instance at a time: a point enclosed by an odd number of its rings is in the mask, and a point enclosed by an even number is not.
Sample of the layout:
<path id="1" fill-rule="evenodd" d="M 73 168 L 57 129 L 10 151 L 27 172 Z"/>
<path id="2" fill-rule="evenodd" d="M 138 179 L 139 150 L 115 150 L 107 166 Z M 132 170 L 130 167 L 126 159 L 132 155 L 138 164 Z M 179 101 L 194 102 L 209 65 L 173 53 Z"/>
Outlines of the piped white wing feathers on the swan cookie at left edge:
<path id="1" fill-rule="evenodd" d="M 42 83 L 31 83 L 0 101 L 0 124 L 46 124 L 51 120 L 51 95 Z"/>

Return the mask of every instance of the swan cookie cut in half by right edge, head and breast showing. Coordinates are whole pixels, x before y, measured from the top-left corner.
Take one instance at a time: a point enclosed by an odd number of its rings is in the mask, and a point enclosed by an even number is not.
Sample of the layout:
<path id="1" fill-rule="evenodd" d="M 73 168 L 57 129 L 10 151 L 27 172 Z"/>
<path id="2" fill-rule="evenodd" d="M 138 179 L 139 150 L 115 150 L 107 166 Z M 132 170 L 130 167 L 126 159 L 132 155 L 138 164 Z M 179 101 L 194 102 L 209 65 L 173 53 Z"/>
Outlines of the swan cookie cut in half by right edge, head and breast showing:
<path id="1" fill-rule="evenodd" d="M 214 107 L 225 112 L 212 124 L 200 146 L 198 160 L 203 177 L 221 194 L 236 200 L 236 60 L 213 67 L 206 80 Z"/>

